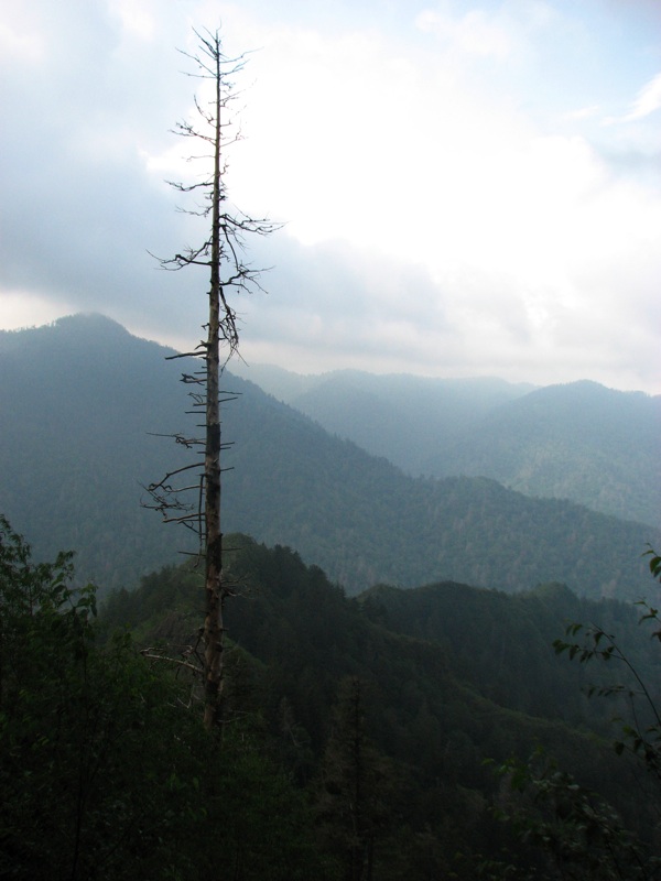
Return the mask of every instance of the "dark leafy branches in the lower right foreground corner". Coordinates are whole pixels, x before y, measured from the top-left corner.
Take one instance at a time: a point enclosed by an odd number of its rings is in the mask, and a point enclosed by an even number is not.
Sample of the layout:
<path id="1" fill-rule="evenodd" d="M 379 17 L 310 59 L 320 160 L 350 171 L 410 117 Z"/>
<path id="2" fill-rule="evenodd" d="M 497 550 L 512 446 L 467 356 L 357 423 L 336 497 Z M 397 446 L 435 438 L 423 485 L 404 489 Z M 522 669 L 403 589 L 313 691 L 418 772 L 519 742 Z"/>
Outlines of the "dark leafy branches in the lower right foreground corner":
<path id="1" fill-rule="evenodd" d="M 649 568 L 654 578 L 661 576 L 661 558 L 650 550 Z M 657 609 L 642 601 L 646 610 L 639 623 L 659 623 Z M 576 878 L 609 881 L 626 879 L 651 881 L 661 875 L 661 857 L 657 855 L 655 837 L 661 819 L 661 716 L 658 685 L 646 682 L 646 673 L 632 655 L 625 651 L 615 635 L 603 627 L 571 623 L 568 639 L 557 639 L 556 654 L 566 653 L 571 660 L 586 664 L 593 660 L 614 664 L 627 674 L 624 682 L 590 686 L 588 695 L 628 698 L 627 718 L 616 717 L 620 728 L 613 746 L 615 753 L 629 760 L 642 760 L 648 772 L 644 780 L 636 776 L 638 792 L 637 833 L 627 831 L 621 816 L 603 796 L 581 786 L 573 775 L 561 771 L 555 762 L 538 750 L 528 761 L 510 760 L 497 769 L 507 777 L 511 792 L 519 800 L 501 800 L 500 819 L 509 823 L 525 846 L 551 858 L 553 870 L 539 864 L 530 871 L 512 875 L 503 863 L 494 864 L 490 877 Z M 659 639 L 659 630 L 651 634 Z M 651 784 L 651 785 L 650 785 Z"/>

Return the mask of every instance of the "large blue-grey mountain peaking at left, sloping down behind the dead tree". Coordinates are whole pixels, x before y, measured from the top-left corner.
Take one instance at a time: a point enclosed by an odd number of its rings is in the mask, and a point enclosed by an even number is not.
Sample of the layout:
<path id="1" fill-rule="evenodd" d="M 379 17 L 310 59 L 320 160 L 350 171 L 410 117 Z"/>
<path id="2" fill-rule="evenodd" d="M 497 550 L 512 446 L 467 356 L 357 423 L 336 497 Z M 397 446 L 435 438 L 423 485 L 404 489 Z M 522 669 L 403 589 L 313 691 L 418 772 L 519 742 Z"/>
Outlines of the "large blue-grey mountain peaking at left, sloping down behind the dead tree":
<path id="1" fill-rule="evenodd" d="M 185 365 L 109 319 L 74 316 L 0 335 L 0 511 L 37 555 L 78 552 L 105 587 L 173 559 L 188 533 L 140 507 L 140 485 L 185 461 L 153 434 L 194 431 Z M 637 598 L 654 530 L 484 478 L 407 477 L 250 382 L 225 409 L 225 530 L 295 547 L 358 591 L 451 579 L 518 591 L 564 581 Z M 189 543 L 187 547 L 189 547 Z"/>

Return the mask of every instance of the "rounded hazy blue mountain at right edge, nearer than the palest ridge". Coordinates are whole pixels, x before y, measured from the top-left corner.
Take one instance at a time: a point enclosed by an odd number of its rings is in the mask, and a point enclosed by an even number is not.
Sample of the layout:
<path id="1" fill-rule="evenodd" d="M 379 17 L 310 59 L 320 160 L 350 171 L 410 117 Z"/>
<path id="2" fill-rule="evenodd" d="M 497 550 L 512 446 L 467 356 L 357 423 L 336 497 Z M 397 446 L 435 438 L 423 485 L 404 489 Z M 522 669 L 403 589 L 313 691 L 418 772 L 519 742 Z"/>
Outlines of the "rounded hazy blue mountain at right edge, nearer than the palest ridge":
<path id="1" fill-rule="evenodd" d="M 538 389 L 488 413 L 434 459 L 519 492 L 661 523 L 661 396 L 596 382 Z"/>

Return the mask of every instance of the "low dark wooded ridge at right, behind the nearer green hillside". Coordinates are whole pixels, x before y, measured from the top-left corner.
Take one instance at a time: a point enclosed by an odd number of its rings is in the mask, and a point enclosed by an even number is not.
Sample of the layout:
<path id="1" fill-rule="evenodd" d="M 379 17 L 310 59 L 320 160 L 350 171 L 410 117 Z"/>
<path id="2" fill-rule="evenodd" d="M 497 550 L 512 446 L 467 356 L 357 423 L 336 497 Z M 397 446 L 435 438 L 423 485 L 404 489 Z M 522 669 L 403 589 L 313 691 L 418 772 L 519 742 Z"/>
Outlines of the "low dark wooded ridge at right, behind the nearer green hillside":
<path id="1" fill-rule="evenodd" d="M 585 698 L 588 671 L 559 664 L 549 650 L 567 618 L 599 618 L 621 634 L 627 653 L 650 679 L 661 675 L 658 652 L 638 639 L 631 606 L 579 598 L 564 585 L 517 595 L 447 581 L 410 590 L 381 585 L 359 602 L 370 620 L 442 645 L 457 675 L 485 697 L 538 717 L 608 730 L 610 713 Z M 608 684 L 607 671 L 592 673 L 599 686 Z M 626 710 L 624 696 L 618 708 Z"/>

